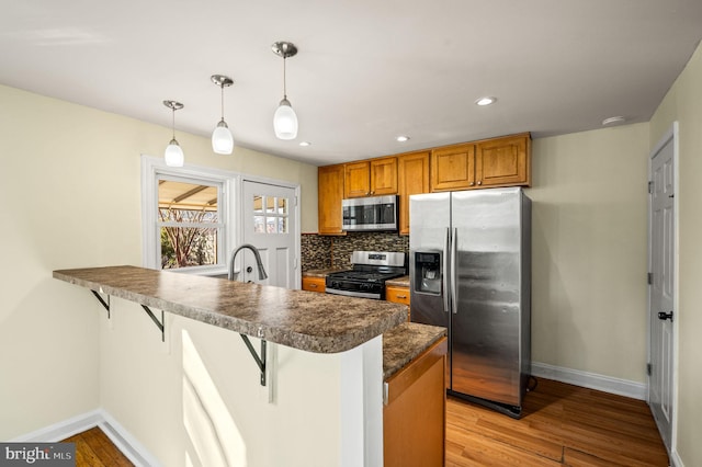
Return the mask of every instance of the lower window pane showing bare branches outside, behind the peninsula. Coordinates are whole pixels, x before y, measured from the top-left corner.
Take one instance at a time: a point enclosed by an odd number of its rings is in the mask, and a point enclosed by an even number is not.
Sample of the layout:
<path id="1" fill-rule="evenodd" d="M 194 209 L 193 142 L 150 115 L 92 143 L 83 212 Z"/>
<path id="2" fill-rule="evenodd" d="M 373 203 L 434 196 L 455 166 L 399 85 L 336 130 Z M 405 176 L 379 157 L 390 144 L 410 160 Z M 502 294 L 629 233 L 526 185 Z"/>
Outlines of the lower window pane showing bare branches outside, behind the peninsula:
<path id="1" fill-rule="evenodd" d="M 161 227 L 161 267 L 217 264 L 216 228 Z"/>

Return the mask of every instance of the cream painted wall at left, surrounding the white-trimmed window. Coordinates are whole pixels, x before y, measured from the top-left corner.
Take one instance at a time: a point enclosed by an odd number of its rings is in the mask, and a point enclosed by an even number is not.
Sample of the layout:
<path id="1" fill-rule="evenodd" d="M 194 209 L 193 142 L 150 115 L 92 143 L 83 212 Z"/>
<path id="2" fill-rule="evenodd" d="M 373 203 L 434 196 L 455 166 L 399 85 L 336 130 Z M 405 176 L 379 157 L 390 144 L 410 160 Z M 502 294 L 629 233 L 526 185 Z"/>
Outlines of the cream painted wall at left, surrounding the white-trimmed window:
<path id="1" fill-rule="evenodd" d="M 163 112 L 158 126 L 0 86 L 0 440 L 100 406 L 104 311 L 52 271 L 141 264 L 140 155 L 162 153 Z M 177 137 L 189 163 L 299 183 L 302 229 L 316 230 L 316 167 Z"/>

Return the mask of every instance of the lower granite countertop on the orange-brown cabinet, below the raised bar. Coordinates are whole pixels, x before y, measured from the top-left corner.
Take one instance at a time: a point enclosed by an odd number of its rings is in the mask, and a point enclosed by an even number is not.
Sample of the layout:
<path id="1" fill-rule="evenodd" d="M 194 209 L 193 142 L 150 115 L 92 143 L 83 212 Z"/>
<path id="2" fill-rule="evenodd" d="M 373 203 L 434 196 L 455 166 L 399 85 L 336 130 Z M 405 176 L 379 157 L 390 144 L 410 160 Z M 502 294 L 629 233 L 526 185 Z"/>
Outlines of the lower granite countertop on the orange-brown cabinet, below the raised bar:
<path id="1" fill-rule="evenodd" d="M 383 380 L 446 335 L 446 328 L 404 322 L 383 333 Z"/>

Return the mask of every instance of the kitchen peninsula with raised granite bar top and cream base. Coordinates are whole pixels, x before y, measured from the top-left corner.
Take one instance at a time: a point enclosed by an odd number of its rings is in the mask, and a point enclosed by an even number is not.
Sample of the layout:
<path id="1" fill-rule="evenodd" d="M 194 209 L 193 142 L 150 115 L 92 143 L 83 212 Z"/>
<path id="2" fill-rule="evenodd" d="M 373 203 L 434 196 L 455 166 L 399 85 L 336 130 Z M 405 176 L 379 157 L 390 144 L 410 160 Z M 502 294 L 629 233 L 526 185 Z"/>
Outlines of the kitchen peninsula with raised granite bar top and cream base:
<path id="1" fill-rule="evenodd" d="M 134 266 L 63 270 L 54 277 L 93 291 L 106 301 L 106 321 L 151 328 L 103 327 L 114 363 L 103 371 L 127 379 L 116 383 L 123 388 L 141 389 L 134 398 L 115 389 L 104 405 L 162 465 L 193 457 L 195 465 L 382 465 L 381 388 L 388 377 L 382 334 L 394 331 L 400 353 L 412 357 L 444 334 L 434 329 L 421 342 L 397 339 L 406 307 L 382 300 Z M 161 323 L 160 333 L 139 306 Z M 163 321 L 149 307 L 166 311 Z M 267 386 L 252 360 L 257 345 L 249 353 L 229 331 L 273 344 Z M 144 333 L 150 341 L 139 348 Z"/>

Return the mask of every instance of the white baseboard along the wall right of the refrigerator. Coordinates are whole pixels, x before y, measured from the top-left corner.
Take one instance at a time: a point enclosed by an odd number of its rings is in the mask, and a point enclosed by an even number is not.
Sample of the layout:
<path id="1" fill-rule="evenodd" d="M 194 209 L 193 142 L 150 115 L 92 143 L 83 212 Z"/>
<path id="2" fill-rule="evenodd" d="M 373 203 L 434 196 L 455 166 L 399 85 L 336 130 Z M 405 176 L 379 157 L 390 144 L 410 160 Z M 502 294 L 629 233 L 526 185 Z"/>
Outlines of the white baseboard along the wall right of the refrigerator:
<path id="1" fill-rule="evenodd" d="M 548 365 L 546 363 L 532 362 L 531 374 L 536 377 L 555 379 L 556 381 L 568 383 L 638 400 L 646 400 L 648 392 L 647 386 L 643 383 L 613 378 L 611 376 L 598 375 L 597 373 L 564 368 L 562 366 Z"/>

